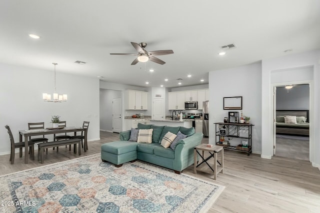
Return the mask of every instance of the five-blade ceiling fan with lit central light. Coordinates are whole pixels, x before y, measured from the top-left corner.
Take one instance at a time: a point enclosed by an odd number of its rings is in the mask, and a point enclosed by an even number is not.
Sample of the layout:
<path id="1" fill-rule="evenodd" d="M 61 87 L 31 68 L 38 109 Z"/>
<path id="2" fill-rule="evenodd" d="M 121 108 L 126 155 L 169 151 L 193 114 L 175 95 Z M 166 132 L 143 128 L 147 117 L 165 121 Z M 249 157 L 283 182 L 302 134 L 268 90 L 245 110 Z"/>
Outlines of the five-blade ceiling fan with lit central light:
<path id="1" fill-rule="evenodd" d="M 147 62 L 148 60 L 153 61 L 158 64 L 165 64 L 164 61 L 162 61 L 159 58 L 156 58 L 154 56 L 157 55 L 168 55 L 173 54 L 172 50 L 155 50 L 155 51 L 146 51 L 144 47 L 146 47 L 145 42 L 141 43 L 134 43 L 131 42 L 132 46 L 138 53 L 110 53 L 110 55 L 137 55 L 137 57 L 132 61 L 131 65 L 136 64 L 137 62 Z"/>

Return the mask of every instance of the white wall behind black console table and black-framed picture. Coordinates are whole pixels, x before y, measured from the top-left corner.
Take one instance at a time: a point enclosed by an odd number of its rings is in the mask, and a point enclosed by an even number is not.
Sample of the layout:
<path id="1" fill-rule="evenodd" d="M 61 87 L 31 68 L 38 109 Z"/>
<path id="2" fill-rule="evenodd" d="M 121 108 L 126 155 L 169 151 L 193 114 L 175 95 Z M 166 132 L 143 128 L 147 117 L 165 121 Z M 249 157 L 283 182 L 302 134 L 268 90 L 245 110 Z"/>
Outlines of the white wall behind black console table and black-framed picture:
<path id="1" fill-rule="evenodd" d="M 242 96 L 243 115 L 250 117 L 252 152 L 261 153 L 261 63 L 209 72 L 209 143 L 215 143 L 215 122 L 223 122 L 223 97 Z M 231 145 L 241 144 L 237 139 Z"/>

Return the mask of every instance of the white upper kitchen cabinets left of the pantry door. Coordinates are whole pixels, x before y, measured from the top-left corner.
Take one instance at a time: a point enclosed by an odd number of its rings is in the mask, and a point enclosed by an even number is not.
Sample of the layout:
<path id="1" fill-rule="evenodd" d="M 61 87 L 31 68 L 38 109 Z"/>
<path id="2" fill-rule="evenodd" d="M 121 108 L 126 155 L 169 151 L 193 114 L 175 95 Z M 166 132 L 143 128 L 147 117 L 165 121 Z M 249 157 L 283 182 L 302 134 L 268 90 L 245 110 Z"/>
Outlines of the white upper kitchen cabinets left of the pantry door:
<path id="1" fill-rule="evenodd" d="M 126 110 L 147 110 L 148 93 L 136 90 L 125 90 L 124 102 Z"/>

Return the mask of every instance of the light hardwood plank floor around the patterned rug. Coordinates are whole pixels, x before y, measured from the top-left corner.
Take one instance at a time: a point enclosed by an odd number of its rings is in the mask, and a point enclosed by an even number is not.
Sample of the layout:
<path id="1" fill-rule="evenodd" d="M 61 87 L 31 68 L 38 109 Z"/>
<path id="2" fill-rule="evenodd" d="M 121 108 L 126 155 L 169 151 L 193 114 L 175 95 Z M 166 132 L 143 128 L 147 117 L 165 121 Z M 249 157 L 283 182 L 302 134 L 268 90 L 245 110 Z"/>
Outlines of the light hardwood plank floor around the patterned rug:
<path id="1" fill-rule="evenodd" d="M 118 140 L 118 134 L 100 132 L 100 139 L 89 142 L 89 150 L 80 157 L 100 153 L 101 144 Z M 202 143 L 208 143 L 208 139 Z M 3 155 L 0 175 L 73 158 L 78 156 L 63 147 L 58 153 L 49 150 L 44 164 L 35 159 L 25 165 L 17 154 L 14 165 L 10 165 L 9 155 Z M 255 154 L 224 150 L 224 174 L 219 173 L 216 181 L 206 173 L 194 175 L 193 165 L 183 174 L 225 186 L 208 213 L 320 213 L 320 171 L 308 161 L 281 157 L 267 160 Z"/>

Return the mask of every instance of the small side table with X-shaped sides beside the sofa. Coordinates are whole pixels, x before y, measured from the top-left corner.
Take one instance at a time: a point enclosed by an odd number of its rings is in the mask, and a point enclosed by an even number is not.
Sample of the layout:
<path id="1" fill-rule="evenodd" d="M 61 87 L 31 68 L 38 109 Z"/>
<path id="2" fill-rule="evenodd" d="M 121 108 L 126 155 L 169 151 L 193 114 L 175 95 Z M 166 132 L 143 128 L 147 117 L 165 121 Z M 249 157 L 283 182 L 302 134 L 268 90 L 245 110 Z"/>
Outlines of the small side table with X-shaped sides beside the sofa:
<path id="1" fill-rule="evenodd" d="M 198 152 L 202 151 L 202 155 Z M 214 146 L 213 147 L 207 147 L 206 144 L 200 144 L 196 147 L 194 147 L 194 166 L 193 166 L 193 172 L 196 174 L 196 171 L 206 172 L 201 170 L 200 166 L 205 163 L 213 172 L 213 179 L 216 180 L 216 176 L 219 172 L 223 173 L 223 147 L 221 146 Z M 204 152 L 208 152 L 210 154 L 209 157 L 204 159 Z M 220 162 L 217 160 L 217 154 L 220 153 Z M 202 161 L 196 162 L 196 154 L 199 154 Z M 208 160 L 214 158 L 214 165 L 213 169 L 208 164 Z M 219 164 L 219 167 L 217 167 L 217 164 Z M 203 164 L 204 165 L 204 164 Z"/>

